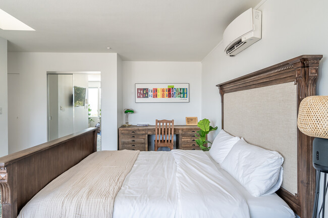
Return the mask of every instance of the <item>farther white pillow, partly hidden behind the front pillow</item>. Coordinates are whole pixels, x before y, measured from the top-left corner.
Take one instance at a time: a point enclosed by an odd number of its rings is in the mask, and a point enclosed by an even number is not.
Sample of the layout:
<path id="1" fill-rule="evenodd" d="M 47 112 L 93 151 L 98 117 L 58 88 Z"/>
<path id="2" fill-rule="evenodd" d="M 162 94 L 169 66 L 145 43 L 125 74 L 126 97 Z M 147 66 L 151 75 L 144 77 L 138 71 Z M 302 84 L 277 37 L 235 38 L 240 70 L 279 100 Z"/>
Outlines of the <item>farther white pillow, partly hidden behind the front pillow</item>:
<path id="1" fill-rule="evenodd" d="M 222 163 L 226 158 L 232 146 L 240 140 L 239 137 L 234 137 L 224 130 L 221 130 L 215 137 L 209 155 L 217 162 Z"/>

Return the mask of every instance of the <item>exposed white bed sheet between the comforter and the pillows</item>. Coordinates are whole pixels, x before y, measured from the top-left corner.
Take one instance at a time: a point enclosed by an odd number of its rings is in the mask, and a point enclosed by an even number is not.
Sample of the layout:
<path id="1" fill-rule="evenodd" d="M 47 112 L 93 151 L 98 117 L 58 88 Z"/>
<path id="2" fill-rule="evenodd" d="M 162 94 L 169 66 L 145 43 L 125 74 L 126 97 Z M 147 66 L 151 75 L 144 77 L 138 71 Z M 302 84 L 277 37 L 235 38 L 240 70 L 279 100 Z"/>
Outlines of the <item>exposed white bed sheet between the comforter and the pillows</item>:
<path id="1" fill-rule="evenodd" d="M 220 165 L 215 162 L 209 155 L 208 151 L 205 151 L 210 160 L 214 163 L 216 169 L 220 171 L 225 177 L 236 187 L 239 192 L 244 196 L 248 203 L 250 215 L 252 218 L 294 218 L 295 213 L 288 206 L 288 204 L 279 197 L 276 193 L 254 197 L 236 181 L 227 171 L 222 169 Z"/>

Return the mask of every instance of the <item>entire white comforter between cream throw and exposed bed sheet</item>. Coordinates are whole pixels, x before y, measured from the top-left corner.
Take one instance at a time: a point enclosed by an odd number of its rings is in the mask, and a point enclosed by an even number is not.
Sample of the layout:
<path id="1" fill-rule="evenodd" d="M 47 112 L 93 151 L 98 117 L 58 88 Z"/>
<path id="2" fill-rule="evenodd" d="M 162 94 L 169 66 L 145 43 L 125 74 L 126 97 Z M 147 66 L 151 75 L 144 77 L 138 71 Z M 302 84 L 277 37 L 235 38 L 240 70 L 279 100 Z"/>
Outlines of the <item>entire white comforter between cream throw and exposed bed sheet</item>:
<path id="1" fill-rule="evenodd" d="M 249 209 L 203 151 L 148 151 L 126 177 L 113 217 L 247 218 Z"/>

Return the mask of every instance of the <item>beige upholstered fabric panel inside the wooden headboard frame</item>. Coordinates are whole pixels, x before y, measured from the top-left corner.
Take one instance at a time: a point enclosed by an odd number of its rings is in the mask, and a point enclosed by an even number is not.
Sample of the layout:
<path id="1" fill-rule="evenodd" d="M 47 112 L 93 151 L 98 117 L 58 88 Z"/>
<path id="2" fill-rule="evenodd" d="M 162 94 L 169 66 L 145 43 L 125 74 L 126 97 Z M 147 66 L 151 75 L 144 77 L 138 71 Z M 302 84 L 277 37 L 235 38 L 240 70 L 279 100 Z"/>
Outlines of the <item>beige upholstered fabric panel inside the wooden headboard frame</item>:
<path id="1" fill-rule="evenodd" d="M 224 98 L 224 129 L 282 154 L 282 187 L 293 194 L 297 194 L 296 99 L 294 82 L 231 92 Z"/>

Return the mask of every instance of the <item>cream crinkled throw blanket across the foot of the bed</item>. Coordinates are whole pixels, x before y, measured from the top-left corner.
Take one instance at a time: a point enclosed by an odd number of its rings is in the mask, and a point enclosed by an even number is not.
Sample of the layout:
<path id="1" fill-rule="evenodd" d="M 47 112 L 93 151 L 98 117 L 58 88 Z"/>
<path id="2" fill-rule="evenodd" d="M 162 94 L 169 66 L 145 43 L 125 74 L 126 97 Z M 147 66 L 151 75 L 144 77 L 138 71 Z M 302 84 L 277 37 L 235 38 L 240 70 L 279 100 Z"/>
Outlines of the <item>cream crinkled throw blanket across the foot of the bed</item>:
<path id="1" fill-rule="evenodd" d="M 18 217 L 112 217 L 115 197 L 139 152 L 90 154 L 38 192 Z"/>

